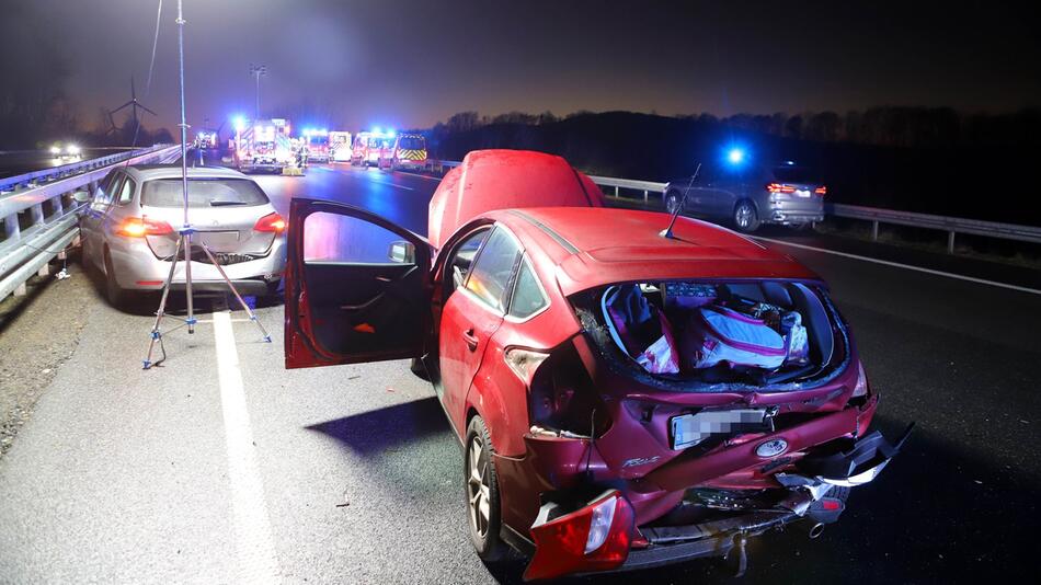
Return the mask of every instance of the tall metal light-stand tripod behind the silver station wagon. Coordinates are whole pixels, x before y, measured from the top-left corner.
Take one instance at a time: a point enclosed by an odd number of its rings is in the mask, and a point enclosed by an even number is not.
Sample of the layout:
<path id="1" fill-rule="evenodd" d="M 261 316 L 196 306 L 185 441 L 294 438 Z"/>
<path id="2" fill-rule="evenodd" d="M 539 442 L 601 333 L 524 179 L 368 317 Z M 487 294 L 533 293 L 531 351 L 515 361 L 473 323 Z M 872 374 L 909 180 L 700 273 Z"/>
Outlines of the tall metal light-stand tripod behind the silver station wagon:
<path id="1" fill-rule="evenodd" d="M 165 317 L 167 299 L 170 298 L 170 288 L 173 285 L 173 276 L 176 273 L 178 261 L 182 259 L 182 250 L 184 250 L 184 292 L 185 300 L 187 301 L 187 317 L 181 320 L 185 325 L 187 325 L 188 334 L 195 333 L 195 324 L 198 322 L 198 320 L 195 319 L 195 306 L 192 302 L 192 234 L 195 233 L 195 228 L 193 228 L 191 222 L 188 222 L 188 125 L 184 119 L 184 22 L 182 0 L 178 0 L 178 51 L 180 56 L 181 74 L 181 124 L 179 124 L 179 126 L 181 127 L 181 188 L 184 194 L 184 225 L 178 230 L 178 245 L 170 262 L 170 274 L 167 275 L 167 282 L 162 287 L 162 299 L 159 301 L 159 310 L 156 311 L 156 324 L 152 325 L 151 339 L 148 342 L 148 354 L 145 356 L 144 360 L 144 369 L 149 369 L 167 359 L 167 349 L 162 344 L 162 333 L 160 331 L 160 325 L 162 325 L 162 319 Z M 245 309 L 247 314 L 250 316 L 250 321 L 253 321 L 256 323 L 256 326 L 260 328 L 261 334 L 264 336 L 264 341 L 271 343 L 271 335 L 267 334 L 264 325 L 262 325 L 260 321 L 256 320 L 256 314 L 252 309 L 250 309 L 250 306 L 245 303 L 245 301 L 242 299 L 242 296 L 239 295 L 239 291 L 234 288 L 234 285 L 231 284 L 231 279 L 228 278 L 224 267 L 217 262 L 217 259 L 214 257 L 214 254 L 209 251 L 209 248 L 207 248 L 203 242 L 198 242 L 196 245 L 199 246 L 203 253 L 206 254 L 206 257 L 209 260 L 209 262 L 214 265 L 214 267 L 217 268 L 217 272 L 220 273 L 220 277 L 224 278 L 225 284 L 228 285 L 228 288 L 234 295 L 234 298 L 239 301 L 239 305 L 241 305 L 242 308 Z M 162 357 L 158 362 L 152 362 L 152 352 L 156 348 L 157 341 L 159 342 L 159 349 L 162 352 Z"/>

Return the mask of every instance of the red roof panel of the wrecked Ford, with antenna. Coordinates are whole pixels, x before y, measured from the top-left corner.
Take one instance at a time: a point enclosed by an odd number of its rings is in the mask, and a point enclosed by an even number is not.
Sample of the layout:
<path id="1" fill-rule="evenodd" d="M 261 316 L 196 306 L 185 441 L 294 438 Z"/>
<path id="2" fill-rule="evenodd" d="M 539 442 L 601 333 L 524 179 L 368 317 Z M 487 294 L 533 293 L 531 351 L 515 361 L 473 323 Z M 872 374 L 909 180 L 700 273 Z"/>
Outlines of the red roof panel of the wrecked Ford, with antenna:
<path id="1" fill-rule="evenodd" d="M 564 295 L 645 279 L 817 278 L 786 254 L 687 217 L 676 220 L 675 239 L 666 239 L 660 233 L 670 216 L 661 213 L 542 207 L 490 215 L 538 243 L 557 264 Z"/>

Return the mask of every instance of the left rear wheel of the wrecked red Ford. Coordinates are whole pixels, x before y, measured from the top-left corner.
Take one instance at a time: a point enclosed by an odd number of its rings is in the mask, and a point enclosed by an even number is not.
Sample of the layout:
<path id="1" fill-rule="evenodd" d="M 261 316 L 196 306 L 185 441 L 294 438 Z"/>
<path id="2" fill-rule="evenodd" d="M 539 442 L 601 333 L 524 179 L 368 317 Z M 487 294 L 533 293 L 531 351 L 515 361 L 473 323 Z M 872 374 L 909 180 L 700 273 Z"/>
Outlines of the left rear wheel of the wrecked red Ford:
<path id="1" fill-rule="evenodd" d="M 502 509 L 499 496 L 499 475 L 492 457 L 495 448 L 484 420 L 474 416 L 467 427 L 462 470 L 467 504 L 467 527 L 470 542 L 478 557 L 487 563 L 503 560 L 507 546 L 499 536 Z"/>

